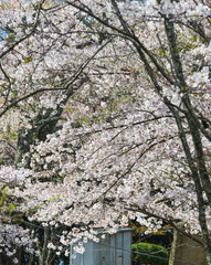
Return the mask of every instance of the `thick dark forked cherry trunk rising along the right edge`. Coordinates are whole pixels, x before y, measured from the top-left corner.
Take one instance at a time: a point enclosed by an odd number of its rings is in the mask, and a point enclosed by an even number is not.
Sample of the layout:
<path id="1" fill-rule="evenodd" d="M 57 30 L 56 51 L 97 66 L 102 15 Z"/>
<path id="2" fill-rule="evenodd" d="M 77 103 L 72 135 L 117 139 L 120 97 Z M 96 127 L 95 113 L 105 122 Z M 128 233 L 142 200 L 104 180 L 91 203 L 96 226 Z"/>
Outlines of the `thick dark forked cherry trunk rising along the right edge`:
<path id="1" fill-rule="evenodd" d="M 210 176 L 208 173 L 205 161 L 204 161 L 203 146 L 202 146 L 201 135 L 199 130 L 200 123 L 197 118 L 197 115 L 193 115 L 194 110 L 191 106 L 191 103 L 188 96 L 188 91 L 186 88 L 182 64 L 179 56 L 179 50 L 177 47 L 175 24 L 173 24 L 173 21 L 170 20 L 170 18 L 165 18 L 165 29 L 166 29 L 169 50 L 171 54 L 175 76 L 176 76 L 176 85 L 180 88 L 180 92 L 184 93 L 184 96 L 182 97 L 182 103 L 184 106 L 186 121 L 189 126 L 190 135 L 192 136 L 192 144 L 194 146 L 194 157 L 192 157 L 191 155 L 190 146 L 187 141 L 187 136 L 182 126 L 182 120 L 179 117 L 178 110 L 176 110 L 175 107 L 172 107 L 171 105 L 167 104 L 167 106 L 169 107 L 169 109 L 171 110 L 171 113 L 176 118 L 180 140 L 183 146 L 183 150 L 184 150 L 187 161 L 192 174 L 192 179 L 194 181 L 198 208 L 199 208 L 199 222 L 200 222 L 203 243 L 204 243 L 207 264 L 211 265 L 211 241 L 210 241 L 210 235 L 209 235 L 209 230 L 208 230 L 207 219 L 205 219 L 207 203 L 203 199 L 203 191 L 204 191 L 208 198 L 208 203 L 211 205 L 211 181 L 210 181 Z"/>

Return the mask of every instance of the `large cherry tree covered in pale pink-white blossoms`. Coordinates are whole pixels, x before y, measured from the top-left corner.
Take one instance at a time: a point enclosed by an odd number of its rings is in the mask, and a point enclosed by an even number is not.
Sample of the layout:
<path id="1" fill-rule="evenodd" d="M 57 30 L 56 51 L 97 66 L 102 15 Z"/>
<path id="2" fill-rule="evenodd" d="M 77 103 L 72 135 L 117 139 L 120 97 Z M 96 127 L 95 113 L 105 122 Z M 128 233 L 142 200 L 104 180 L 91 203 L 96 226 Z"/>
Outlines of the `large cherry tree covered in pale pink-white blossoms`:
<path id="1" fill-rule="evenodd" d="M 99 227 L 169 223 L 210 265 L 210 2 L 3 0 L 0 13 L 14 215 L 65 226 L 66 255 Z"/>

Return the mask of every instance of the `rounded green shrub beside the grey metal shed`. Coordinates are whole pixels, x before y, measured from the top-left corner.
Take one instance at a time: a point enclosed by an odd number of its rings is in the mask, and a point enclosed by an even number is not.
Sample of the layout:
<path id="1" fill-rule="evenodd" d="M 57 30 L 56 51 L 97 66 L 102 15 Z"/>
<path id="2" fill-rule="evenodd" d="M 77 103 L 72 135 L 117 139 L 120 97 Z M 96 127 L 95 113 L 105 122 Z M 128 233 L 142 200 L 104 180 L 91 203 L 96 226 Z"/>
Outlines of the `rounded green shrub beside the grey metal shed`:
<path id="1" fill-rule="evenodd" d="M 150 243 L 137 243 L 131 245 L 133 261 L 135 265 L 167 265 L 169 253 L 161 246 Z"/>

